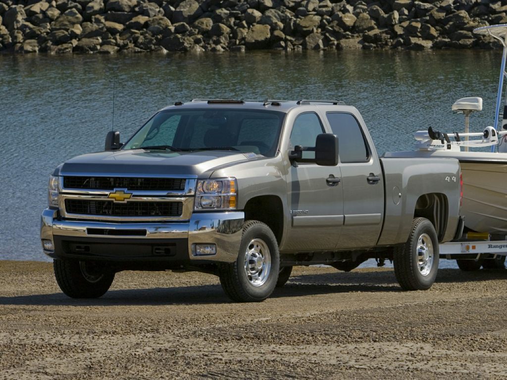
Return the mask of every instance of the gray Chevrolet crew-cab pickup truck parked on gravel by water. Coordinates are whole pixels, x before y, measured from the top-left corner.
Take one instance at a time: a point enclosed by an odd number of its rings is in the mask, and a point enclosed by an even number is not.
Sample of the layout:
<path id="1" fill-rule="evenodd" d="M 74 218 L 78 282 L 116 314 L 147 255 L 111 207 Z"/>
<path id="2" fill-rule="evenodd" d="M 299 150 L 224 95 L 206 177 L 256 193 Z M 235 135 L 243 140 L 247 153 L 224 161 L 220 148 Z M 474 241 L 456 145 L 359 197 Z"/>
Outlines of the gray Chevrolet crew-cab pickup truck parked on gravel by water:
<path id="1" fill-rule="evenodd" d="M 379 158 L 338 101 L 193 100 L 127 142 L 50 176 L 41 241 L 61 290 L 99 297 L 124 270 L 200 271 L 236 301 L 261 301 L 294 265 L 350 271 L 394 262 L 428 289 L 439 243 L 461 225 L 454 159 Z"/>

